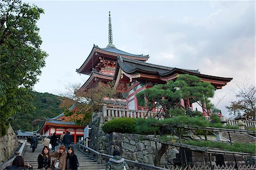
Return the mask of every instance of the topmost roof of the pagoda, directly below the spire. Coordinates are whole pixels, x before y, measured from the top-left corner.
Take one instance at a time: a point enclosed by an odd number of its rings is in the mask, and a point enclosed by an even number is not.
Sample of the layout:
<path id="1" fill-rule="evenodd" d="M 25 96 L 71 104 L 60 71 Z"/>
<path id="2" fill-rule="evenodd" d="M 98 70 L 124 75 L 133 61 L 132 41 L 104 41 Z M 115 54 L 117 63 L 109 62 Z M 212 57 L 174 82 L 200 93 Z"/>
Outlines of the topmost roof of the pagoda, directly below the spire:
<path id="1" fill-rule="evenodd" d="M 79 69 L 76 69 L 77 73 L 81 74 L 90 74 L 92 72 L 92 68 L 100 62 L 99 57 L 107 57 L 109 60 L 116 61 L 117 56 L 122 56 L 124 58 L 135 59 L 140 61 L 147 61 L 149 56 L 148 55 L 134 55 L 115 47 L 106 47 L 100 48 L 97 45 L 93 44 L 92 51 L 90 52 L 89 56 L 86 58 L 84 63 L 81 65 Z"/>

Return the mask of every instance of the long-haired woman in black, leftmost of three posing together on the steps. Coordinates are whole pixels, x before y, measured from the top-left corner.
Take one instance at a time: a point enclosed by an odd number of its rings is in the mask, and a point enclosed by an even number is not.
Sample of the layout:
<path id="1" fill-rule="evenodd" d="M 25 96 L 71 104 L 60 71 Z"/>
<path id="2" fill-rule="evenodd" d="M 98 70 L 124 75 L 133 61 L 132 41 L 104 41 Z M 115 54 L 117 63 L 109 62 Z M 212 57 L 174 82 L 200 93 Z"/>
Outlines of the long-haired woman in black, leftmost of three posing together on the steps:
<path id="1" fill-rule="evenodd" d="M 49 156 L 48 146 L 44 146 L 42 153 L 38 155 L 38 169 L 51 170 L 51 157 Z"/>

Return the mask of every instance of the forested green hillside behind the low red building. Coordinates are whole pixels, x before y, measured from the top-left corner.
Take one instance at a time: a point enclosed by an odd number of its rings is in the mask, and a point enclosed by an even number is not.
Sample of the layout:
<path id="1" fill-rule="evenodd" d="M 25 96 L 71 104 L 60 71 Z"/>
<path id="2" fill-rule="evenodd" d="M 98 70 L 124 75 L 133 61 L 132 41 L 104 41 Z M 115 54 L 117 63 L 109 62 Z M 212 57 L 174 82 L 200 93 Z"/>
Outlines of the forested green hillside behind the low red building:
<path id="1" fill-rule="evenodd" d="M 63 112 L 59 107 L 61 97 L 49 93 L 31 92 L 34 99 L 31 101 L 35 110 L 28 113 L 18 113 L 13 116 L 14 130 L 35 131 L 40 127 L 45 118 L 53 118 Z"/>

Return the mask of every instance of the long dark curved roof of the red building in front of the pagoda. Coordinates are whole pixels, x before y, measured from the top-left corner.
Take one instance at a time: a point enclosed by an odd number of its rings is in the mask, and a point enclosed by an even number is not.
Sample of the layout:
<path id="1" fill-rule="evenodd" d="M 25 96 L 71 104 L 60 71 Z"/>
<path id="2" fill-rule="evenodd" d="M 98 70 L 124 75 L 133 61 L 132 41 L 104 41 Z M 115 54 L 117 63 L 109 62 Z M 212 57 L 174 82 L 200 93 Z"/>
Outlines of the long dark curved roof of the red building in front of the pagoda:
<path id="1" fill-rule="evenodd" d="M 116 71 L 114 74 L 115 88 L 117 87 L 120 77 L 122 74 L 126 76 L 126 79 L 122 81 L 127 81 L 130 78 L 130 82 L 135 78 L 138 81 L 155 81 L 159 83 L 166 82 L 168 80 L 173 80 L 179 77 L 179 74 L 191 74 L 197 76 L 201 81 L 210 82 L 217 89 L 221 89 L 225 86 L 227 82 L 230 82 L 233 78 L 210 76 L 207 74 L 201 74 L 199 70 L 191 69 L 180 69 L 173 67 L 164 67 L 162 65 L 155 65 L 150 63 L 145 63 L 142 61 L 125 59 L 118 56 Z"/>

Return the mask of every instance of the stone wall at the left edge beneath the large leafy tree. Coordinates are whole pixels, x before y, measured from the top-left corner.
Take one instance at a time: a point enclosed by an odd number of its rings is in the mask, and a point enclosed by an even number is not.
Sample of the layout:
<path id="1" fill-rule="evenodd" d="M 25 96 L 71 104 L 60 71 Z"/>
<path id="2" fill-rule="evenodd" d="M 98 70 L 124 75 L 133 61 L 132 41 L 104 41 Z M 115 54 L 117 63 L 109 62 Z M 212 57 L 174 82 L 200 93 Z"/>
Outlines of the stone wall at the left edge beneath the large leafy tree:
<path id="1" fill-rule="evenodd" d="M 10 126 L 7 135 L 0 137 L 0 164 L 13 157 L 18 147 L 17 136 Z"/>

